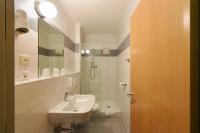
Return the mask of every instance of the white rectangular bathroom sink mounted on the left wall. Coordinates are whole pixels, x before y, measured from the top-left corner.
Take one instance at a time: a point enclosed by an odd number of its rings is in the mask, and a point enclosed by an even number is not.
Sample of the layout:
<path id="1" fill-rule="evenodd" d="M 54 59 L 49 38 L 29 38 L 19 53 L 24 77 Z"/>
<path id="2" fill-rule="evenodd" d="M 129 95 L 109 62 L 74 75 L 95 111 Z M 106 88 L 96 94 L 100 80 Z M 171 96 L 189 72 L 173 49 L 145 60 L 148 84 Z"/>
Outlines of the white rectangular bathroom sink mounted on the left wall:
<path id="1" fill-rule="evenodd" d="M 92 107 L 95 103 L 93 95 L 75 95 L 75 105 L 70 102 L 61 102 L 48 113 L 51 123 L 84 123 L 90 120 Z"/>

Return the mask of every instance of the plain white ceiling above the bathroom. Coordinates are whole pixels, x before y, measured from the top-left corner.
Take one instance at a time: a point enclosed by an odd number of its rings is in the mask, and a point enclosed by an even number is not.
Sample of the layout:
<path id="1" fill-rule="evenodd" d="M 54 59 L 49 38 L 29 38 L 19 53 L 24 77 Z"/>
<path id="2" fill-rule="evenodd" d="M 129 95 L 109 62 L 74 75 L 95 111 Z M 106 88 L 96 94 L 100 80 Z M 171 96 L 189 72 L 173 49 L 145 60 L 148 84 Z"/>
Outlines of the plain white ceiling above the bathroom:
<path id="1" fill-rule="evenodd" d="M 130 0 L 59 0 L 86 34 L 115 34 Z"/>

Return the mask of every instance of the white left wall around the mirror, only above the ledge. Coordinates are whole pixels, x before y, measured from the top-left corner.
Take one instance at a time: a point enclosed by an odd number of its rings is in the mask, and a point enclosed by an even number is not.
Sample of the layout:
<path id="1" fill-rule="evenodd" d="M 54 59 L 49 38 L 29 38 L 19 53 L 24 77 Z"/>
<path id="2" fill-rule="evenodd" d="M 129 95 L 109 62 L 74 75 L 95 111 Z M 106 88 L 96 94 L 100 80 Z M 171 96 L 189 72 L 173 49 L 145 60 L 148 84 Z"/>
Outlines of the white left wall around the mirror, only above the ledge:
<path id="1" fill-rule="evenodd" d="M 58 3 L 57 0 L 51 0 L 57 10 L 58 15 L 49 20 L 52 24 L 54 24 L 59 30 L 61 30 L 64 34 L 66 34 L 71 40 L 76 42 L 75 38 L 75 23 L 71 20 L 71 18 L 65 13 L 62 6 Z M 30 24 L 30 32 L 24 35 L 16 36 L 16 58 L 15 58 L 15 72 L 18 74 L 20 71 L 28 70 L 32 74 L 32 78 L 37 77 L 38 73 L 38 16 L 34 10 L 34 0 L 15 0 L 15 9 L 23 9 L 26 11 Z M 78 36 L 78 35 L 77 35 Z M 80 35 L 79 35 L 80 36 Z M 67 73 L 79 72 L 78 66 L 80 63 L 76 60 L 76 53 L 64 48 L 65 51 L 65 70 Z M 20 65 L 19 63 L 19 55 L 26 54 L 30 57 L 30 64 Z M 77 70 L 75 69 L 77 67 Z"/>

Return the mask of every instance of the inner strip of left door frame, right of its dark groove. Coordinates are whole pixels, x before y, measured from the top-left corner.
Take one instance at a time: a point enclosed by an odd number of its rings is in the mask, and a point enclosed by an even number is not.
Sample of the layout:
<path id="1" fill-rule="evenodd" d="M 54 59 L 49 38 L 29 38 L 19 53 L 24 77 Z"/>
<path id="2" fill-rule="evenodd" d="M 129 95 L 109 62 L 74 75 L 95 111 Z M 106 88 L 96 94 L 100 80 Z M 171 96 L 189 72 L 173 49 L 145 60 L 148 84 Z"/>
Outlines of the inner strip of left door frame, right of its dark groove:
<path id="1" fill-rule="evenodd" d="M 6 133 L 15 132 L 15 10 L 6 0 Z"/>

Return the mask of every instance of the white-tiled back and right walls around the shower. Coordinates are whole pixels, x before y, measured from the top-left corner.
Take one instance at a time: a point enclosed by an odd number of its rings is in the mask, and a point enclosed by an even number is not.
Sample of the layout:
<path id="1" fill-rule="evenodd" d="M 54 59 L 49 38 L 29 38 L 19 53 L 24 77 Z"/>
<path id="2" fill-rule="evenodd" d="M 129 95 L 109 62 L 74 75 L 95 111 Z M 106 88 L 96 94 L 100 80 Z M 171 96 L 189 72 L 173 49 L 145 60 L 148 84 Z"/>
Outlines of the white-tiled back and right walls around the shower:
<path id="1" fill-rule="evenodd" d="M 95 57 L 96 79 L 91 80 L 90 74 L 90 56 L 82 57 L 81 69 L 81 92 L 94 94 L 97 101 L 113 100 L 116 101 L 121 109 L 121 116 L 125 125 L 125 132 L 130 132 L 130 100 L 127 94 L 130 93 L 130 35 L 119 42 L 119 36 L 116 35 L 89 35 L 84 36 L 83 48 L 109 48 L 117 51 L 117 54 L 103 55 L 98 54 Z M 127 84 L 126 88 L 119 87 L 120 82 Z"/>

